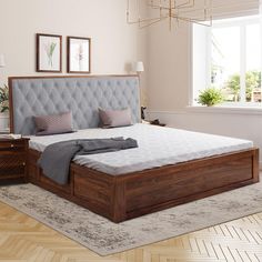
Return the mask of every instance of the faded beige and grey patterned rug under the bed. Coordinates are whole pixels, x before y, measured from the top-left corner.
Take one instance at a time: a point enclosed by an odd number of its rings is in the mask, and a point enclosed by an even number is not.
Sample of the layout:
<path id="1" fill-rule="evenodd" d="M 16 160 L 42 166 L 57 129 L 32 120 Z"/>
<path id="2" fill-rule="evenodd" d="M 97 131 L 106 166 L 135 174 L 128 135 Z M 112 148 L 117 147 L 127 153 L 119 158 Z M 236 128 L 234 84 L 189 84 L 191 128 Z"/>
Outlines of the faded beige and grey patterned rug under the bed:
<path id="1" fill-rule="evenodd" d="M 115 224 L 33 184 L 0 188 L 0 201 L 100 255 L 262 211 L 262 182 Z"/>

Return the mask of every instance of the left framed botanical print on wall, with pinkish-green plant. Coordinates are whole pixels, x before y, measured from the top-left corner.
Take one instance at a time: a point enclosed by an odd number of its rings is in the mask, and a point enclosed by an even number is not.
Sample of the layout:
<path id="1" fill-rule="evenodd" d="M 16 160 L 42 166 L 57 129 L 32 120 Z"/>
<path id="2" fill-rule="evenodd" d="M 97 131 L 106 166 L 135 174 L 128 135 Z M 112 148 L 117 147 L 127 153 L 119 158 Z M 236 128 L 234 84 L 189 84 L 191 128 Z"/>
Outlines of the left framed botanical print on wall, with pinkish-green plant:
<path id="1" fill-rule="evenodd" d="M 37 72 L 62 72 L 62 37 L 37 33 Z"/>

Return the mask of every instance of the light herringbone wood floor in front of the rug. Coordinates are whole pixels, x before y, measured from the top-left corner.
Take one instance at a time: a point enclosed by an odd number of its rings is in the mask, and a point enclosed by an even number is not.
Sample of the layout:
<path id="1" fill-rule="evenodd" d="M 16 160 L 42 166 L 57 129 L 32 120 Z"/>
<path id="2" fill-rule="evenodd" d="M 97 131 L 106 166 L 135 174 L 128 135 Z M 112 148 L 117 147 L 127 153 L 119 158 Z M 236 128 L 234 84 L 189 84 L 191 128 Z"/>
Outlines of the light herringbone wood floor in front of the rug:
<path id="1" fill-rule="evenodd" d="M 99 256 L 0 202 L 0 261 L 262 261 L 262 213 L 123 253 Z"/>

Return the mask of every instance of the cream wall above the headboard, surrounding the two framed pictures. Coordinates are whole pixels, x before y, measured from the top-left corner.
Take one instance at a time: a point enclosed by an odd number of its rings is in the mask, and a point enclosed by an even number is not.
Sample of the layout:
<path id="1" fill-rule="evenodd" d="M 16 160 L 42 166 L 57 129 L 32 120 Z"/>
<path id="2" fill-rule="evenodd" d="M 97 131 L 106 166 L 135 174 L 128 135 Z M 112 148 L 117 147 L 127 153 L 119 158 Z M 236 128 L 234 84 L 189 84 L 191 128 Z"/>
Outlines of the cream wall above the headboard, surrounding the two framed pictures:
<path id="1" fill-rule="evenodd" d="M 0 53 L 7 62 L 0 81 L 8 75 L 41 75 L 36 73 L 37 32 L 63 36 L 63 73 L 67 36 L 91 38 L 92 74 L 129 72 L 130 63 L 144 59 L 144 36 L 127 24 L 125 4 L 123 0 L 0 0 Z"/>

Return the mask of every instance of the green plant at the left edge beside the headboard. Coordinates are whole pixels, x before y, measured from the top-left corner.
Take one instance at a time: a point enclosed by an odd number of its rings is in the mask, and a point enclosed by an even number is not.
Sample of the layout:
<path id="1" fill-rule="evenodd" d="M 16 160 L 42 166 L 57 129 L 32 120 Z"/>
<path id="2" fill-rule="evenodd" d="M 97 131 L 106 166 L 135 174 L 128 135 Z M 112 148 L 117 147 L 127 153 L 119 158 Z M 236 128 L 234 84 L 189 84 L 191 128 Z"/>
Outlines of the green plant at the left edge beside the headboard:
<path id="1" fill-rule="evenodd" d="M 7 130 L 9 128 L 9 90 L 4 84 L 0 88 L 0 130 Z"/>

